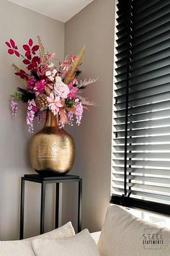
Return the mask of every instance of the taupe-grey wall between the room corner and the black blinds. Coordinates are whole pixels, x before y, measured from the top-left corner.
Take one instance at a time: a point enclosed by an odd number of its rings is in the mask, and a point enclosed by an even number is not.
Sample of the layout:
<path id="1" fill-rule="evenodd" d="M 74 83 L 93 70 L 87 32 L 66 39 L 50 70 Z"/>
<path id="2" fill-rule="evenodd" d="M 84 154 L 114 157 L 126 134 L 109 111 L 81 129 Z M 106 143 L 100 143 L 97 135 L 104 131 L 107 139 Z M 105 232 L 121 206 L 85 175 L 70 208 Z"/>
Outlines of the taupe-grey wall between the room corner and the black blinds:
<path id="1" fill-rule="evenodd" d="M 83 77 L 99 77 L 85 93 L 98 106 L 91 106 L 81 127 L 71 131 L 76 140 L 73 173 L 84 183 L 83 227 L 90 231 L 101 229 L 110 198 L 114 15 L 115 1 L 94 0 L 65 27 L 65 53 L 77 54 L 86 45 Z M 71 193 L 64 186 L 63 223 L 71 218 L 75 223 L 75 197 L 75 189 Z"/>

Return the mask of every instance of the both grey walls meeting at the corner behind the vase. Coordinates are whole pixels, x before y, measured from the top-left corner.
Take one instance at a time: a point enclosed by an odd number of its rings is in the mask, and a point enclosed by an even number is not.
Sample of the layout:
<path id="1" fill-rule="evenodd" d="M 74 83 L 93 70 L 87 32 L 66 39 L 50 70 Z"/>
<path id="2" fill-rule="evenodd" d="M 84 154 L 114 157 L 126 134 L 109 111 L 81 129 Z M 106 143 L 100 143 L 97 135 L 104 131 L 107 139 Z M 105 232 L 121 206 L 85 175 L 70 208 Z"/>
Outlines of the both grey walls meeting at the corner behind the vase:
<path id="1" fill-rule="evenodd" d="M 11 64 L 21 67 L 21 60 L 6 54 L 4 42 L 13 38 L 18 46 L 30 37 L 40 35 L 49 52 L 58 59 L 65 54 L 77 54 L 86 45 L 81 69 L 83 77 L 99 77 L 86 89 L 86 97 L 95 101 L 86 111 L 81 127 L 67 128 L 76 141 L 76 162 L 71 174 L 79 174 L 84 181 L 83 227 L 90 231 L 101 229 L 109 205 L 111 173 L 112 121 L 112 64 L 114 41 L 115 1 L 94 0 L 89 6 L 66 22 L 50 19 L 6 0 L 0 6 L 0 240 L 18 239 L 20 177 L 34 173 L 27 158 L 30 135 L 27 132 L 24 106 L 20 106 L 16 120 L 11 117 L 9 95 L 22 81 L 13 74 Z M 64 40 L 65 29 L 65 40 Z M 25 237 L 39 232 L 40 186 L 26 184 Z M 45 231 L 53 229 L 54 187 L 47 187 Z M 63 186 L 62 223 L 73 221 L 76 227 L 76 186 Z"/>

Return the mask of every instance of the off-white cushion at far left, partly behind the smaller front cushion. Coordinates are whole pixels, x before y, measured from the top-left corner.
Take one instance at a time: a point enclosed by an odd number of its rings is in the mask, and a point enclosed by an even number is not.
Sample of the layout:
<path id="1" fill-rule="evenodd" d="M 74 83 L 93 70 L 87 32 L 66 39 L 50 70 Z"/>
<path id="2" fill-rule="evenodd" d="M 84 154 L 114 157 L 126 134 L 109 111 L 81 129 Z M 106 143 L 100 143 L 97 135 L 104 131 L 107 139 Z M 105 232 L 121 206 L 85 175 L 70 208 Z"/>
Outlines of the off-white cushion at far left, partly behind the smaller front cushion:
<path id="1" fill-rule="evenodd" d="M 17 240 L 17 241 L 0 241 L 0 255 L 1 256 L 35 256 L 32 249 L 32 239 L 58 239 L 68 236 L 73 236 L 75 231 L 71 222 L 61 226 L 58 229 L 35 236 L 30 239 Z"/>

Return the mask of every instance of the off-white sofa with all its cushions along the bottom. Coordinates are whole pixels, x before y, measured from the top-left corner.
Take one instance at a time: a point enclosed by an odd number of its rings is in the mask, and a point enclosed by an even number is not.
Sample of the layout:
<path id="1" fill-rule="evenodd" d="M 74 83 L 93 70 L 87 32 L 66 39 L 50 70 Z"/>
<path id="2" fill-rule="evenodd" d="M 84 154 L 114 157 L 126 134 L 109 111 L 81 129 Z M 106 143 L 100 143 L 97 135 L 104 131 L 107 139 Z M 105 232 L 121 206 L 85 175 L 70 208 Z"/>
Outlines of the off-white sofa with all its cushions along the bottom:
<path id="1" fill-rule="evenodd" d="M 92 237 L 92 238 L 91 238 Z M 141 221 L 125 208 L 107 209 L 101 232 L 75 235 L 71 223 L 31 239 L 0 242 L 0 256 L 170 256 L 170 230 Z"/>

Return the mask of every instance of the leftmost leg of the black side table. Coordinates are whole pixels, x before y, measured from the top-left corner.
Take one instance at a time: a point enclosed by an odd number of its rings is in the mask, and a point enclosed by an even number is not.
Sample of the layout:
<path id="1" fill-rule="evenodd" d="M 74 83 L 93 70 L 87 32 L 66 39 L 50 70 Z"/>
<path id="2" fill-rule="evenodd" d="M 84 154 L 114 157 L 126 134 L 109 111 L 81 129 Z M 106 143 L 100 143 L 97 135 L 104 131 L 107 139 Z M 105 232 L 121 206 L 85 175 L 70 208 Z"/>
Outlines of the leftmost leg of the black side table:
<path id="1" fill-rule="evenodd" d="M 23 237 L 24 237 L 24 178 L 22 177 L 19 239 L 23 239 Z"/>

